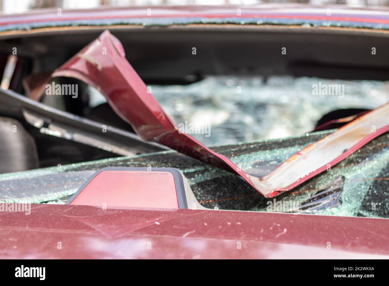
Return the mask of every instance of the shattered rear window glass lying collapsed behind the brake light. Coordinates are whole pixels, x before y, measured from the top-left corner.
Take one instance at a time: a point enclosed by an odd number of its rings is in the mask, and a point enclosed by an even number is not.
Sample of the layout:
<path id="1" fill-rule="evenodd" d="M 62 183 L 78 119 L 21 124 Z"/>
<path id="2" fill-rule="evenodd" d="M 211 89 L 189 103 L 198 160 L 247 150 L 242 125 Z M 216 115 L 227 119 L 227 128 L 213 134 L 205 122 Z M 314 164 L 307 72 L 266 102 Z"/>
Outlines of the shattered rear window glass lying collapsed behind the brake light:
<path id="1" fill-rule="evenodd" d="M 238 165 L 260 165 L 270 172 L 301 147 L 315 142 L 333 130 L 309 136 L 231 144 L 213 148 Z M 81 184 L 103 167 L 175 167 L 183 172 L 198 202 L 207 208 L 244 211 L 366 216 L 389 218 L 389 135 L 384 134 L 356 153 L 317 175 L 292 191 L 275 198 L 265 198 L 248 188 L 238 176 L 200 161 L 166 151 L 132 158 L 120 157 L 94 162 L 50 167 L 21 173 L 0 175 L 2 200 L 7 202 L 64 204 Z M 277 205 L 281 202 L 281 205 Z M 292 207 L 285 209 L 284 202 Z M 277 209 L 278 208 L 278 209 Z M 284 209 L 283 209 L 284 208 Z"/>

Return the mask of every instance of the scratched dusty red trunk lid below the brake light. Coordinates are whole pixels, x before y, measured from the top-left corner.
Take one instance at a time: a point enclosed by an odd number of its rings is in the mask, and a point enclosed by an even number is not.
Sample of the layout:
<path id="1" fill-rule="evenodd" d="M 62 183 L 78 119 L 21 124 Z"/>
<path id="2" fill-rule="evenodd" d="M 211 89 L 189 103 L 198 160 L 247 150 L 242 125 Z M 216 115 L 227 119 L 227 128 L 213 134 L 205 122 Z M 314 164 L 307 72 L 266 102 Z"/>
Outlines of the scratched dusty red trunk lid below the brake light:
<path id="1" fill-rule="evenodd" d="M 0 249 L 0 258 L 389 258 L 389 220 L 32 205 L 30 215 L 0 212 Z"/>

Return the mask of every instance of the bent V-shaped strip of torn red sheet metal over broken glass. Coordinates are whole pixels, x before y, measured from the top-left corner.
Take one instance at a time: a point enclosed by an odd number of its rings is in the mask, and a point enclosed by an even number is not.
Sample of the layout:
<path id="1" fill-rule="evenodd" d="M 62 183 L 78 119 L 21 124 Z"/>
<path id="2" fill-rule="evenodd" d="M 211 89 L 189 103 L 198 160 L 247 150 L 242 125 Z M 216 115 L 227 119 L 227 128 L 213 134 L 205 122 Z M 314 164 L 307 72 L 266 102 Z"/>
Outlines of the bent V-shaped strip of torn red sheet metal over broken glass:
<path id="1" fill-rule="evenodd" d="M 275 197 L 293 189 L 389 130 L 389 105 L 386 104 L 305 147 L 260 179 L 255 175 L 255 168 L 242 170 L 227 157 L 212 151 L 190 135 L 179 132 L 126 60 L 120 41 L 108 30 L 56 69 L 45 81 L 60 76 L 77 78 L 98 89 L 114 111 L 130 123 L 144 140 L 158 142 L 235 173 L 266 197 Z M 35 83 L 30 97 L 39 98 L 45 86 L 46 83 Z"/>

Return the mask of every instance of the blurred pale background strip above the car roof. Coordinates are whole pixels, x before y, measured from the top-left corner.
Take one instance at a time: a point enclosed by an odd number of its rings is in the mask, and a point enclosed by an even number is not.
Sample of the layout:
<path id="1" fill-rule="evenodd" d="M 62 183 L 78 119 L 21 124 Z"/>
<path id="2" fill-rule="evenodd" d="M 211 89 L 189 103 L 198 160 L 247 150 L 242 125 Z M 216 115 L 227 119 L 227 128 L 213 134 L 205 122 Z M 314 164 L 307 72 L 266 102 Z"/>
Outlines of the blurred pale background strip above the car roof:
<path id="1" fill-rule="evenodd" d="M 254 5 L 261 3 L 343 4 L 355 7 L 389 6 L 389 0 L 0 0 L 0 12 L 20 13 L 37 8 L 95 8 L 102 5 Z"/>

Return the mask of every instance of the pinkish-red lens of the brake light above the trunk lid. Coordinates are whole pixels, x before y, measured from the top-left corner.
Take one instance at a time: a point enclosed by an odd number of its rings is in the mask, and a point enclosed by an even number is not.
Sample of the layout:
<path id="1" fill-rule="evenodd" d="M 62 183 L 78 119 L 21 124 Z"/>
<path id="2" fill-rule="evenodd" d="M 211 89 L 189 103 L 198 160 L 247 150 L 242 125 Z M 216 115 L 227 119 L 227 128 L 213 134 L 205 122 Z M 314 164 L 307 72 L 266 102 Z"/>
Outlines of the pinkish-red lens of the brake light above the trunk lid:
<path id="1" fill-rule="evenodd" d="M 178 209 L 172 173 L 102 171 L 70 205 Z"/>

